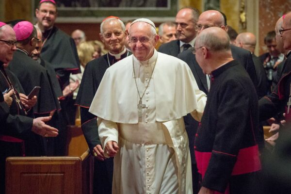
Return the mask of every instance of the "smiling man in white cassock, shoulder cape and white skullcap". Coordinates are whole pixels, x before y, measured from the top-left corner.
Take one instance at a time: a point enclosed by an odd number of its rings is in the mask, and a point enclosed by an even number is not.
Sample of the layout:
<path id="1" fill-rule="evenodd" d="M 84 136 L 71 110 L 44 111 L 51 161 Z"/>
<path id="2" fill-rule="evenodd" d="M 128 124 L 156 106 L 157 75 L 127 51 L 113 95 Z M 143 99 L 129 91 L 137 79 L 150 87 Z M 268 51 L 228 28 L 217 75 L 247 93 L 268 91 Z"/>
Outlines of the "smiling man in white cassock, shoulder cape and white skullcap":
<path id="1" fill-rule="evenodd" d="M 133 55 L 107 69 L 89 109 L 114 157 L 113 194 L 191 194 L 183 116 L 200 120 L 206 95 L 185 62 L 157 52 L 152 21 L 133 21 L 129 40 Z"/>

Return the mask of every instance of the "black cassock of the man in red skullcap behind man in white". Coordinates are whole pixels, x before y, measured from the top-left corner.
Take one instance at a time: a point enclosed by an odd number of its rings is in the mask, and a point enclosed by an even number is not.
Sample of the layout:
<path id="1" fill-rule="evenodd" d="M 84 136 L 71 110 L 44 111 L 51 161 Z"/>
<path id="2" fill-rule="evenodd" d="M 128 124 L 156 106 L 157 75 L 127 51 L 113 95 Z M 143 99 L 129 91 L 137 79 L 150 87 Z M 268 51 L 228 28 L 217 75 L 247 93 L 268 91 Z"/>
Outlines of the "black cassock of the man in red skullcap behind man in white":
<path id="1" fill-rule="evenodd" d="M 126 51 L 121 55 L 121 59 L 130 54 L 129 51 Z M 105 54 L 89 62 L 85 66 L 82 76 L 76 105 L 80 106 L 81 128 L 91 151 L 96 145 L 101 145 L 101 142 L 98 135 L 97 117 L 88 111 L 106 69 L 117 61 L 119 60 L 116 60 L 114 56 Z M 112 178 L 113 158 L 106 159 L 104 162 L 95 160 L 94 193 L 112 193 Z"/>

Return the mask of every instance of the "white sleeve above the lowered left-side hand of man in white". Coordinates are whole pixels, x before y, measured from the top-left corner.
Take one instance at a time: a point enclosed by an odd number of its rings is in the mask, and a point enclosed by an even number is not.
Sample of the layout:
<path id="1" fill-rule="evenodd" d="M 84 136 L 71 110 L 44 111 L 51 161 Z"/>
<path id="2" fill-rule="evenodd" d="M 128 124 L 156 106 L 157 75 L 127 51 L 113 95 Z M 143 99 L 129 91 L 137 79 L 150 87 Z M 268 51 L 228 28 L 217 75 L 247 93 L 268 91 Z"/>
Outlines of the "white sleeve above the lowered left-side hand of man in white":
<path id="1" fill-rule="evenodd" d="M 109 141 L 114 141 L 118 144 L 118 127 L 113 121 L 97 118 L 98 133 L 103 147 Z"/>

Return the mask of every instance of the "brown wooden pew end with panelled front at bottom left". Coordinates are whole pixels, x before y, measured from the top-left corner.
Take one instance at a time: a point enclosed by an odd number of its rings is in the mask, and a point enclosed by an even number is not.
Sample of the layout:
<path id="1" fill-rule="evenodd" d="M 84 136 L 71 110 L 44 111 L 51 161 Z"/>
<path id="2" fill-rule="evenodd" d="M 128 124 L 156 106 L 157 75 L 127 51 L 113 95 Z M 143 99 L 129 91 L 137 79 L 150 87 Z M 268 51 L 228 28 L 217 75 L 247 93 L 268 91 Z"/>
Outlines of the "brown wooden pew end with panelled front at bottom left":
<path id="1" fill-rule="evenodd" d="M 92 194 L 94 158 L 8 157 L 6 194 Z"/>

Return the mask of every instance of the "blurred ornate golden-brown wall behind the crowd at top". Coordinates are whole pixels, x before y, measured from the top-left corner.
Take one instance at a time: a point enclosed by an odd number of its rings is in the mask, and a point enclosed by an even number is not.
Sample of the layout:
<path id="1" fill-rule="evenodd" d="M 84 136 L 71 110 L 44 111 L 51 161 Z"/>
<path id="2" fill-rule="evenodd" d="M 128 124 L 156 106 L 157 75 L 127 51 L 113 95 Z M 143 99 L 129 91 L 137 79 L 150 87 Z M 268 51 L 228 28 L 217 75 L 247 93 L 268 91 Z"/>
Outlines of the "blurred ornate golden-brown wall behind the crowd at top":
<path id="1" fill-rule="evenodd" d="M 202 12 L 205 0 L 178 0 L 179 8 L 193 6 Z M 240 11 L 246 13 L 246 29 L 240 24 Z M 221 11 L 226 14 L 228 25 L 237 32 L 253 32 L 258 37 L 257 54 L 266 52 L 264 36 L 274 30 L 276 20 L 287 11 L 291 10 L 291 0 L 220 0 Z M 174 16 L 173 16 L 174 17 Z M 0 21 L 26 19 L 32 21 L 32 0 L 0 0 Z M 58 20 L 57 20 L 58 22 Z M 58 23 L 58 27 L 67 33 L 76 28 L 83 28 L 89 39 L 98 38 L 98 24 L 96 23 Z M 94 29 L 94 30 L 92 30 Z"/>

